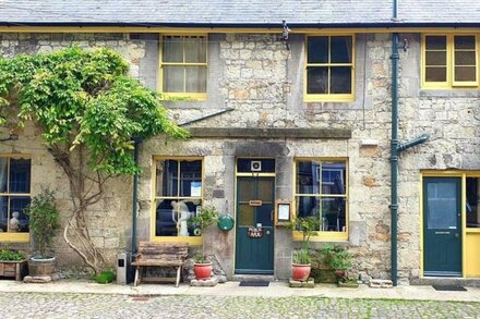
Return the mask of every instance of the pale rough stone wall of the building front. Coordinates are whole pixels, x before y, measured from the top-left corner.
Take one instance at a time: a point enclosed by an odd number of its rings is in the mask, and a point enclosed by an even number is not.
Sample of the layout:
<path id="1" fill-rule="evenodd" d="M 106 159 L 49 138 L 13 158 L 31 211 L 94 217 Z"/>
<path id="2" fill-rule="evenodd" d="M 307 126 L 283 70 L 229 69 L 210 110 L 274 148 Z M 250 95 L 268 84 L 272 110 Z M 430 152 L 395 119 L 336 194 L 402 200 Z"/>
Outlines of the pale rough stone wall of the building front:
<path id="1" fill-rule="evenodd" d="M 298 210 L 301 200 L 296 191 L 300 183 L 298 162 L 340 162 L 345 163 L 346 176 L 344 220 L 338 221 L 337 217 L 333 231 L 336 236 L 329 236 L 329 230 L 325 229 L 314 238 L 313 245 L 340 243 L 356 256 L 355 273 L 389 278 L 392 40 L 389 33 L 350 35 L 355 52 L 353 99 L 305 101 L 308 37 L 304 34 L 290 35 L 288 47 L 274 33 L 207 34 L 206 98 L 166 102 L 171 119 L 191 130 L 192 138 L 175 142 L 158 136 L 141 145 L 139 240 L 172 241 L 157 236 L 156 229 L 157 213 L 160 213 L 158 205 L 167 200 L 156 189 L 161 184 L 156 176 L 158 170 L 161 171 L 159 163 L 165 164 L 165 161 L 200 160 L 202 176 L 196 186 L 201 191 L 190 188 L 190 192 L 201 192 L 202 205 L 215 206 L 230 214 L 237 224 L 241 223 L 238 183 L 248 174 L 255 177 L 249 170 L 241 174 L 239 159 L 274 160 L 274 169 L 256 177 L 272 177 L 274 201 L 291 203 L 292 211 Z M 409 140 L 422 133 L 430 134 L 424 145 L 403 152 L 399 160 L 398 275 L 401 283 L 408 283 L 424 274 L 423 179 L 431 175 L 465 180 L 480 174 L 477 154 L 480 147 L 480 90 L 478 86 L 424 89 L 422 34 L 403 33 L 400 38 L 408 40 L 409 48 L 400 52 L 399 58 L 399 137 Z M 479 38 L 477 32 L 477 47 Z M 161 41 L 158 34 L 3 33 L 0 39 L 3 57 L 48 52 L 73 42 L 85 48 L 112 48 L 131 63 L 133 76 L 151 88 L 159 86 Z M 478 49 L 475 54 L 478 61 Z M 68 194 L 61 183 L 64 176 L 41 147 L 35 127 L 26 127 L 19 140 L 1 143 L 0 154 L 27 155 L 32 159 L 32 195 L 51 186 L 57 191 L 63 218 L 69 216 Z M 132 181 L 117 179 L 108 189 L 98 207 L 89 211 L 89 218 L 96 244 L 105 249 L 113 265 L 117 253 L 130 249 Z M 464 218 L 466 213 L 463 212 Z M 324 222 L 331 224 L 326 219 Z M 339 226 L 338 222 L 344 225 Z M 203 234 L 206 250 L 216 256 L 229 278 L 243 272 L 236 270 L 244 270 L 238 267 L 239 260 L 244 258 L 238 250 L 244 245 L 237 238 L 239 233 L 237 226 L 229 232 L 215 226 Z M 471 245 L 467 241 L 476 243 L 477 238 L 465 229 L 460 235 L 464 240 L 460 275 L 479 277 L 477 257 L 466 255 Z M 297 242 L 285 226 L 273 226 L 272 236 L 273 244 L 268 246 L 274 256 L 272 269 L 262 273 L 287 279 Z M 190 242 L 193 246 L 197 243 Z M 75 255 L 60 235 L 56 243 L 62 267 L 76 265 Z M 466 269 L 465 265 L 470 268 Z"/>

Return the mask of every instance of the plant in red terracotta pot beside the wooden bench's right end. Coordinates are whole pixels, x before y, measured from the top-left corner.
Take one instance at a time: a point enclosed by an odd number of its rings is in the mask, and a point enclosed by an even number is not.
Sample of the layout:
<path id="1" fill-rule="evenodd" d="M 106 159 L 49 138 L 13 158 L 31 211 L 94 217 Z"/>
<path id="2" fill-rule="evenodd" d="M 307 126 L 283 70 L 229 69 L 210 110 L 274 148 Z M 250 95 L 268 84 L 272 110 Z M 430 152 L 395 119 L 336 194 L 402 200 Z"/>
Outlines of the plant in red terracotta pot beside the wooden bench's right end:
<path id="1" fill-rule="evenodd" d="M 196 216 L 189 219 L 189 223 L 195 230 L 199 230 L 202 235 L 206 228 L 217 222 L 218 212 L 215 207 L 202 207 Z M 193 255 L 195 263 L 193 265 L 193 272 L 197 280 L 208 279 L 212 274 L 212 262 L 205 256 L 205 248 L 202 245 L 202 253 Z"/>

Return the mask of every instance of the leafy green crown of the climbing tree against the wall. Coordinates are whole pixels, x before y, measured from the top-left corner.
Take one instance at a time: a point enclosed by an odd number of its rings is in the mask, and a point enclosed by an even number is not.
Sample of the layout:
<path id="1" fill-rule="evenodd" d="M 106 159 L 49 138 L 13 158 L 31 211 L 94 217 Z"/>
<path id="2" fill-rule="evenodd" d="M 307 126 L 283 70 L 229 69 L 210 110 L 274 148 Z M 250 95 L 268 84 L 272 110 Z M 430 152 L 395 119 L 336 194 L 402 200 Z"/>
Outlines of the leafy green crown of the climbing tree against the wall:
<path id="1" fill-rule="evenodd" d="M 82 145 L 89 151 L 92 170 L 134 174 L 135 138 L 189 134 L 168 120 L 160 96 L 128 71 L 127 61 L 109 49 L 72 47 L 0 58 L 0 124 L 11 119 L 17 122 L 9 124 L 19 126 L 34 121 L 47 147 L 72 150 Z M 11 116 L 14 110 L 17 113 Z"/>

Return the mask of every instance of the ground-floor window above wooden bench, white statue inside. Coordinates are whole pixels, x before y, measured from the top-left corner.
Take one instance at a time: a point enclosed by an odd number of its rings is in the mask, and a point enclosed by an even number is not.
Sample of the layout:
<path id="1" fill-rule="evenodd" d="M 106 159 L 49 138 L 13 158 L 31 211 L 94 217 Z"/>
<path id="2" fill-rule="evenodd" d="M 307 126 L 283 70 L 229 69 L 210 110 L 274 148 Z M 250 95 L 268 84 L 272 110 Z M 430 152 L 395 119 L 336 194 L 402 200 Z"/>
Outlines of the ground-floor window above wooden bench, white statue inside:
<path id="1" fill-rule="evenodd" d="M 189 225 L 202 206 L 203 174 L 200 158 L 158 158 L 155 160 L 155 237 L 199 237 Z"/>

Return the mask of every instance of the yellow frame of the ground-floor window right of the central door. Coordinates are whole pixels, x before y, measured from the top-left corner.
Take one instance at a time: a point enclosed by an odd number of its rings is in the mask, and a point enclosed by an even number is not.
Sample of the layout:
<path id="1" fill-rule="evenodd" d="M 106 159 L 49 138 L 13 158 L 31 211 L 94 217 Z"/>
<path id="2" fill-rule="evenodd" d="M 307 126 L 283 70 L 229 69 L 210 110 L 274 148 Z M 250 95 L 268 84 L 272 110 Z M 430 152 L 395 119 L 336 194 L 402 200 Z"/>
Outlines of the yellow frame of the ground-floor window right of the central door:
<path id="1" fill-rule="evenodd" d="M 299 161 L 319 161 L 319 162 L 344 162 L 346 169 L 345 179 L 345 194 L 300 194 L 297 193 L 297 162 Z M 316 236 L 312 236 L 311 242 L 346 242 L 349 235 L 349 165 L 348 158 L 345 157 L 299 157 L 293 161 L 293 204 L 292 204 L 292 219 L 297 217 L 297 198 L 299 196 L 312 196 L 312 197 L 340 197 L 345 198 L 345 232 L 325 232 L 319 231 Z M 322 183 L 322 180 L 320 181 Z M 320 187 L 322 189 L 322 187 Z M 322 192 L 322 191 L 320 191 Z M 299 231 L 292 231 L 293 241 L 302 241 L 302 233 Z"/>

